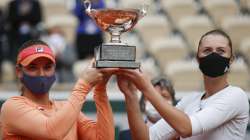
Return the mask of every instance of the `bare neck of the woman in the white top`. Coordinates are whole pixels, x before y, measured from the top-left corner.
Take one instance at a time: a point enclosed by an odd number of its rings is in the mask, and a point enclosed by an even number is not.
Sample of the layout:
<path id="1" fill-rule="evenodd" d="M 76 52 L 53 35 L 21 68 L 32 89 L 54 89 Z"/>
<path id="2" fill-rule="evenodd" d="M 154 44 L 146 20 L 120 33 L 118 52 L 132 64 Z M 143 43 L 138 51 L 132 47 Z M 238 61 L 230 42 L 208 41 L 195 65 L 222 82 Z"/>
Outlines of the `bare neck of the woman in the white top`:
<path id="1" fill-rule="evenodd" d="M 205 96 L 203 99 L 212 96 L 218 91 L 224 89 L 228 86 L 227 75 L 223 75 L 217 78 L 211 78 L 204 76 L 204 88 L 205 88 Z"/>

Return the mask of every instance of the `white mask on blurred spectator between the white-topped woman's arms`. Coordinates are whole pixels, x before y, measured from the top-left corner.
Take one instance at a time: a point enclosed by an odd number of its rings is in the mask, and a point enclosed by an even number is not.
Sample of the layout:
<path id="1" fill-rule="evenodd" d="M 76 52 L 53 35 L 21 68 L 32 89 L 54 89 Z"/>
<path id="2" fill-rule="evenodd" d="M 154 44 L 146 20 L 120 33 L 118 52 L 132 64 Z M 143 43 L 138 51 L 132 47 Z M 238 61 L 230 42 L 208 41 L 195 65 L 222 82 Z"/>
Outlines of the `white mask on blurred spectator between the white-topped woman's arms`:
<path id="1" fill-rule="evenodd" d="M 155 120 L 161 119 L 161 115 L 154 108 L 154 106 L 148 101 L 145 103 L 145 113 L 146 113 L 147 117 L 149 117 L 149 118 L 153 118 Z"/>

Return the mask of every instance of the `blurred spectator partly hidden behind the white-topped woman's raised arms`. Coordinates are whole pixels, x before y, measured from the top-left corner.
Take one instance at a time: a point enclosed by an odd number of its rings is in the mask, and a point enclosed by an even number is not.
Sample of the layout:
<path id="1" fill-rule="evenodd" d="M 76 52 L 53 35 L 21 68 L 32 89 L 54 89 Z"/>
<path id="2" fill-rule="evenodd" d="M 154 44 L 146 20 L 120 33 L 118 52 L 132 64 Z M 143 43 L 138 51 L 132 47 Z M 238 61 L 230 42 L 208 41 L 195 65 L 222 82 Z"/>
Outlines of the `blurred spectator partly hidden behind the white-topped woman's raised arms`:
<path id="1" fill-rule="evenodd" d="M 165 99 L 166 103 L 171 105 L 176 104 L 175 90 L 171 81 L 163 76 L 154 78 L 151 83 L 154 85 L 155 89 L 159 94 Z M 156 123 L 161 119 L 160 114 L 154 108 L 154 106 L 145 98 L 142 94 L 140 98 L 140 110 L 145 114 L 145 123 L 148 126 Z M 124 130 L 120 132 L 119 140 L 132 140 L 130 130 Z"/>

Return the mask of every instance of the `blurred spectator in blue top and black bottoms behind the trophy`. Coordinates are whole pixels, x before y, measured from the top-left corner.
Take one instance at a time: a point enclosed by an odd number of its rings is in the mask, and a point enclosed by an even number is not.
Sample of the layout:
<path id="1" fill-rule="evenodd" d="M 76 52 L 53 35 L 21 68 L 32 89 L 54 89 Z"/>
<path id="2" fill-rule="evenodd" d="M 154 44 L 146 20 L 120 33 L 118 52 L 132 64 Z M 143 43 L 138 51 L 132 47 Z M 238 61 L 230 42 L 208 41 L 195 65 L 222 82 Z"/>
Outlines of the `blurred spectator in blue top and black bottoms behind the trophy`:
<path id="1" fill-rule="evenodd" d="M 91 0 L 93 9 L 105 7 L 104 0 Z M 93 56 L 94 48 L 103 42 L 102 31 L 95 22 L 85 13 L 85 7 L 81 0 L 76 0 L 74 14 L 78 18 L 76 29 L 76 49 L 78 59 Z"/>

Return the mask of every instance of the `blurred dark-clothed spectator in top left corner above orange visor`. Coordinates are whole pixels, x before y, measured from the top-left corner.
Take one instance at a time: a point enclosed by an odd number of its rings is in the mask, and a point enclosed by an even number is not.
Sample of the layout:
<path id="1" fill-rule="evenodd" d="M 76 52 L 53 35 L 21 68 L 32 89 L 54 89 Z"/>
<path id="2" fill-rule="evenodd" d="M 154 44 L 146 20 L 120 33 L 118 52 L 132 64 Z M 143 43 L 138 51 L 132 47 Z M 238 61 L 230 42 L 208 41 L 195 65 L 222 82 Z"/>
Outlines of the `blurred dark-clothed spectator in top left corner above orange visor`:
<path id="1" fill-rule="evenodd" d="M 38 38 L 38 26 L 42 22 L 42 9 L 38 0 L 12 0 L 8 4 L 9 58 L 15 62 L 21 44 Z"/>

